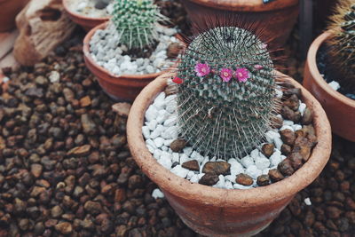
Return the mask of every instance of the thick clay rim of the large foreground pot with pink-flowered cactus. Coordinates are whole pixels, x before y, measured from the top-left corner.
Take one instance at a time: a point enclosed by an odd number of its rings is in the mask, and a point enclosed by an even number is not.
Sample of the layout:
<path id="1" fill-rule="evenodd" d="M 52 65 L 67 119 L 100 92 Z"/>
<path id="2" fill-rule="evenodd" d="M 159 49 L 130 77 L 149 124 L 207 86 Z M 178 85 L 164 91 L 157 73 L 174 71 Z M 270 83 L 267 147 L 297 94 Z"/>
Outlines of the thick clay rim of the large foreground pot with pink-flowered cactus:
<path id="1" fill-rule="evenodd" d="M 282 75 L 279 72 L 278 74 Z M 219 207 L 246 207 L 270 204 L 292 196 L 305 186 L 310 185 L 327 164 L 331 152 L 331 130 L 327 115 L 310 92 L 306 91 L 295 80 L 283 75 L 285 80 L 293 83 L 297 88 L 301 88 L 304 103 L 308 107 L 312 107 L 314 113 L 313 123 L 318 137 L 318 145 L 313 148 L 311 157 L 301 169 L 297 170 L 292 176 L 272 185 L 248 190 L 228 190 L 202 186 L 191 183 L 185 178 L 177 177 L 170 170 L 162 167 L 150 154 L 146 148 L 141 130 L 146 108 L 158 93 L 166 87 L 166 76 L 159 76 L 141 91 L 130 108 L 127 122 L 127 138 L 133 158 L 138 163 L 138 167 L 143 170 L 148 178 L 160 186 L 162 191 L 166 190 L 168 193 L 185 200 L 201 201 Z"/>

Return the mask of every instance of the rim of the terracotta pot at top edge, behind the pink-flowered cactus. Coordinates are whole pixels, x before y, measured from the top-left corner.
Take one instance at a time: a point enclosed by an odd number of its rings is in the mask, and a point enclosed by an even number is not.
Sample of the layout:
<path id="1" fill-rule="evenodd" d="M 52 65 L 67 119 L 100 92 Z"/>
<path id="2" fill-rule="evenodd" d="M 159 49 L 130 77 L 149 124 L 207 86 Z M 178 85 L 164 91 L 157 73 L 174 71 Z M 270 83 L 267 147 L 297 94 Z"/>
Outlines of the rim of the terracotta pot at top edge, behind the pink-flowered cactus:
<path id="1" fill-rule="evenodd" d="M 282 8 L 295 6 L 299 0 L 282 0 L 264 4 L 263 0 L 187 0 L 194 4 L 201 4 L 221 10 L 239 11 L 239 12 L 266 12 L 275 11 Z"/>

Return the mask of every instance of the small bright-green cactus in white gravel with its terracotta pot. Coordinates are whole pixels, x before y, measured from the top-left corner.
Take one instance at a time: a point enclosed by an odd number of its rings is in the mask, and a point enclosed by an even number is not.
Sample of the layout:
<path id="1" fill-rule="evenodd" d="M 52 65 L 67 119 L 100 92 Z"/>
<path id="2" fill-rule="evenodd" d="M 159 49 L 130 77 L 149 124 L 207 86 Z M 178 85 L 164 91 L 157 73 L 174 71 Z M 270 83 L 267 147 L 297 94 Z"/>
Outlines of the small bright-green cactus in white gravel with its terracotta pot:
<path id="1" fill-rule="evenodd" d="M 87 67 L 114 99 L 133 100 L 177 56 L 177 30 L 151 0 L 116 1 L 111 21 L 93 28 L 83 41 Z"/>

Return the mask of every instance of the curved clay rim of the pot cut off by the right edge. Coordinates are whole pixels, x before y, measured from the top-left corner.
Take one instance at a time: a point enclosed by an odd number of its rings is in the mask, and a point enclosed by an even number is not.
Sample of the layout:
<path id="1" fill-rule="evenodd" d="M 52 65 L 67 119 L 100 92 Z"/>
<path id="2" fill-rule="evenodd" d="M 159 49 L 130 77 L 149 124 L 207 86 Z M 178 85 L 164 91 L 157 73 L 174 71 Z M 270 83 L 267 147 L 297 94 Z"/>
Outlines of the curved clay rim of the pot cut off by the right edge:
<path id="1" fill-rule="evenodd" d="M 331 88 L 327 82 L 324 80 L 323 76 L 320 75 L 319 69 L 317 66 L 317 52 L 319 51 L 319 47 L 322 43 L 325 43 L 327 38 L 331 36 L 331 30 L 327 30 L 326 32 L 322 33 L 318 36 L 311 44 L 311 47 L 307 54 L 307 64 L 310 70 L 310 73 L 314 79 L 314 82 L 317 83 L 319 87 L 321 87 L 324 91 L 327 92 L 328 97 L 330 99 L 335 99 L 340 103 L 349 105 L 355 109 L 355 100 L 347 98 L 342 93 L 335 91 Z"/>

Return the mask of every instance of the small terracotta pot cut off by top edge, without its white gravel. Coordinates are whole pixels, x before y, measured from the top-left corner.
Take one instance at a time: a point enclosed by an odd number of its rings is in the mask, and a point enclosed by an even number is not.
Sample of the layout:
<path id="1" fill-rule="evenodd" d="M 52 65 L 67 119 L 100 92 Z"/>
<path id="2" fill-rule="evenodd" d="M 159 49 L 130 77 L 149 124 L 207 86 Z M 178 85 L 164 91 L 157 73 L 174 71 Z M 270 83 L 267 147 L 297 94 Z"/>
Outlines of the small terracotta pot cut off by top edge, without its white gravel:
<path id="1" fill-rule="evenodd" d="M 100 24 L 106 22 L 107 20 L 110 20 L 110 17 L 93 18 L 74 12 L 69 7 L 70 1 L 73 0 L 63 0 L 64 9 L 69 15 L 69 18 L 73 20 L 76 24 L 82 26 L 86 31 L 91 30 L 91 28 L 96 28 Z"/>

